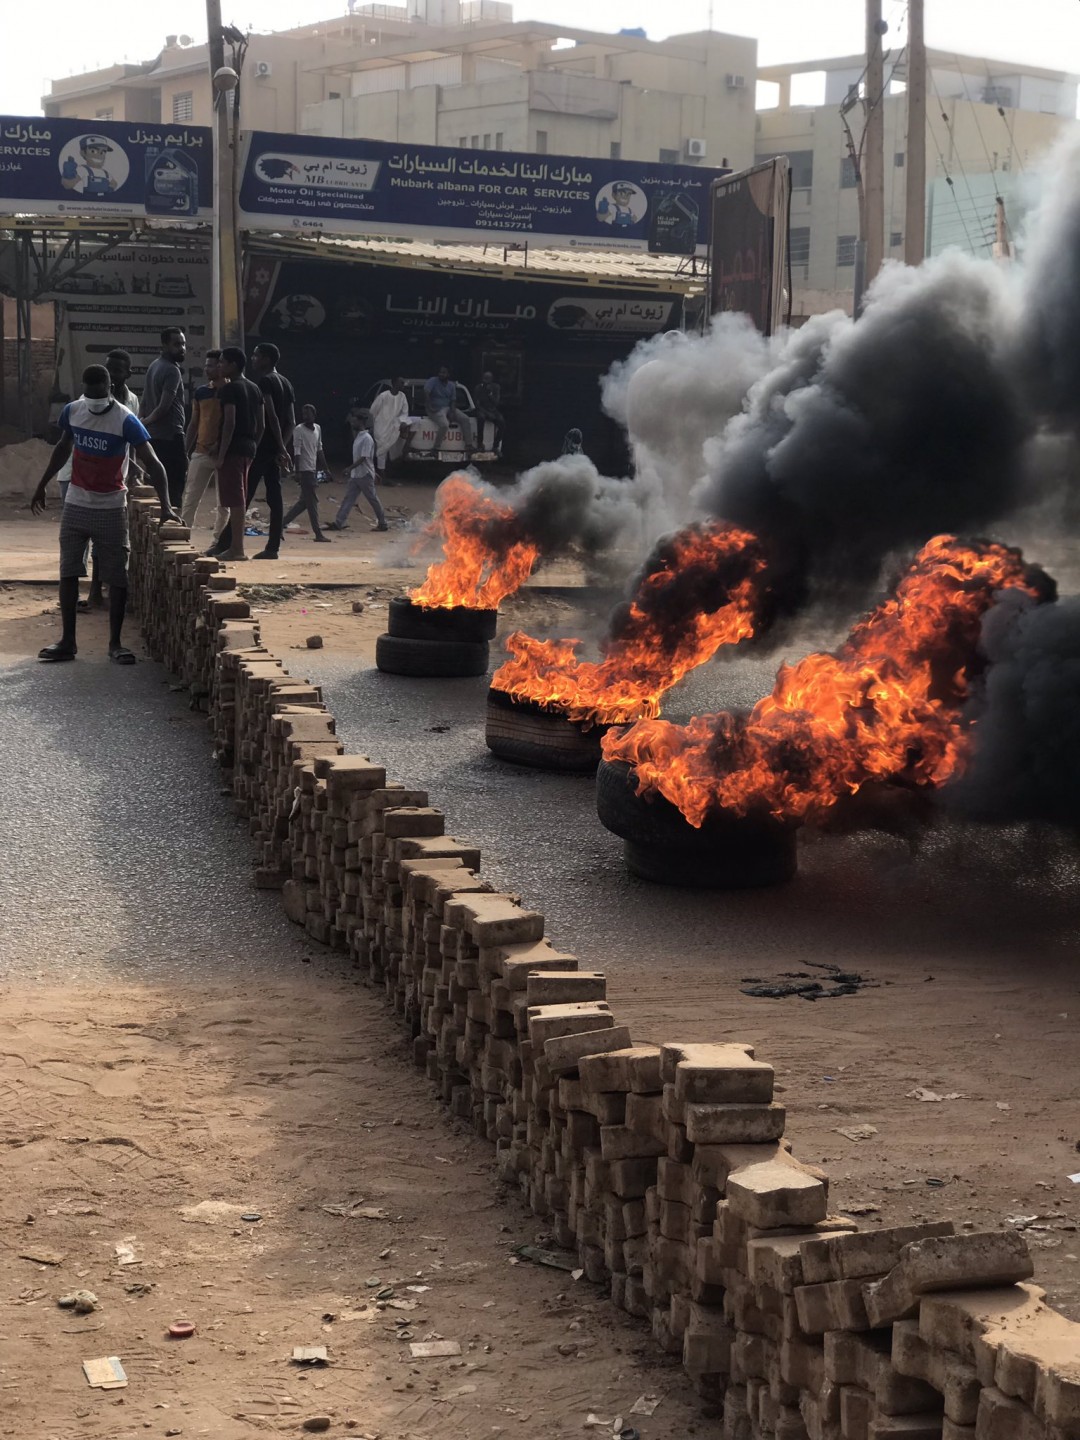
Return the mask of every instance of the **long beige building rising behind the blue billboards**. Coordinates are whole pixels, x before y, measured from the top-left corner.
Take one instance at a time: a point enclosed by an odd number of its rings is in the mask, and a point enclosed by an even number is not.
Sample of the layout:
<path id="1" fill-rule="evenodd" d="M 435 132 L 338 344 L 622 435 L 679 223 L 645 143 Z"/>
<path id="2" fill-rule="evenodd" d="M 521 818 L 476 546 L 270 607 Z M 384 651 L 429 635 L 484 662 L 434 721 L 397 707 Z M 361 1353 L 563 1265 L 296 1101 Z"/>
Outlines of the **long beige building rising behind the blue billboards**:
<path id="1" fill-rule="evenodd" d="M 168 36 L 145 65 L 52 82 L 48 115 L 207 125 L 206 45 Z M 683 164 L 753 160 L 757 43 L 714 32 L 648 40 L 514 22 L 503 0 L 356 6 L 252 35 L 251 130 Z"/>

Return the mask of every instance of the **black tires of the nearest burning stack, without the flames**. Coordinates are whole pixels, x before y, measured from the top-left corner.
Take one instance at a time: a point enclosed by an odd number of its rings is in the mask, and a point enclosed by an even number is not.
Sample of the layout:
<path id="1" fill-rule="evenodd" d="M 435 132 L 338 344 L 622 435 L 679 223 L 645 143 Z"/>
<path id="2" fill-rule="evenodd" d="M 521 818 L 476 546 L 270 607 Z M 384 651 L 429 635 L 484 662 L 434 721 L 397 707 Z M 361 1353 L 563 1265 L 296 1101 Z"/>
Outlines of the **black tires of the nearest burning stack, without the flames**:
<path id="1" fill-rule="evenodd" d="M 700 829 L 661 795 L 635 795 L 629 765 L 602 760 L 596 773 L 600 824 L 624 841 L 626 868 L 641 880 L 694 890 L 749 890 L 791 880 L 791 825 L 714 814 Z"/>

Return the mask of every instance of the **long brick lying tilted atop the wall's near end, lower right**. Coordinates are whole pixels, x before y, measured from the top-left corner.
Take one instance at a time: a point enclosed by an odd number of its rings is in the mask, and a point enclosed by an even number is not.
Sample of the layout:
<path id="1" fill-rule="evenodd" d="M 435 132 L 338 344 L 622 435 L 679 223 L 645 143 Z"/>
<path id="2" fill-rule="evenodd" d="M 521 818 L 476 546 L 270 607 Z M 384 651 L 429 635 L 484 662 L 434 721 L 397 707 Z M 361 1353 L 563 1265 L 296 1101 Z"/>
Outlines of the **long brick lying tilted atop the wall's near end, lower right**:
<path id="1" fill-rule="evenodd" d="M 1027 1280 L 1034 1273 L 1024 1237 L 1017 1231 L 935 1236 L 904 1246 L 884 1280 L 864 1287 L 871 1325 L 906 1319 L 919 1297 L 933 1290 L 992 1287 Z"/>

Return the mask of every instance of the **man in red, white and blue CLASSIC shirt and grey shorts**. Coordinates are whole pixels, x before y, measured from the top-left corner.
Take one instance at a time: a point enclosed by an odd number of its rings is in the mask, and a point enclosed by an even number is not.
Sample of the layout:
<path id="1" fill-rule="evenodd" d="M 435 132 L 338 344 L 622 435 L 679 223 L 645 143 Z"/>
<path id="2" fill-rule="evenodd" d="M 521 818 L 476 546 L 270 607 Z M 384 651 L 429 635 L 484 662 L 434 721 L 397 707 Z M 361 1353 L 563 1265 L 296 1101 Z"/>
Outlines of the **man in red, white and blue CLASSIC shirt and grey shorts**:
<path id="1" fill-rule="evenodd" d="M 168 480 L 161 461 L 150 445 L 145 426 L 111 393 L 105 366 L 92 364 L 82 372 L 82 396 L 65 405 L 60 413 L 60 438 L 30 501 L 30 510 L 45 510 L 45 491 L 53 475 L 72 456 L 71 484 L 60 517 L 60 638 L 37 652 L 39 660 L 75 660 L 75 619 L 79 603 L 79 577 L 86 573 L 88 543 L 101 580 L 109 588 L 109 660 L 134 665 L 135 657 L 124 647 L 120 632 L 128 600 L 128 505 L 124 461 L 128 445 L 143 465 L 161 503 L 163 520 L 180 517 L 168 503 Z"/>

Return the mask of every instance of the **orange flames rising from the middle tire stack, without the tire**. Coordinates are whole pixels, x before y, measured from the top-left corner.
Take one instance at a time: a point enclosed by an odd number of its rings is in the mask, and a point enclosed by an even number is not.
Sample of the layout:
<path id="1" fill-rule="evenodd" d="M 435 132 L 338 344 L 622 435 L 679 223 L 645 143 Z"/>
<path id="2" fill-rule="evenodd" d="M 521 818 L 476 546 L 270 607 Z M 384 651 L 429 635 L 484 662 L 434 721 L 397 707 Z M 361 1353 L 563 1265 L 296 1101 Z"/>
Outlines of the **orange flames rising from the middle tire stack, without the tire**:
<path id="1" fill-rule="evenodd" d="M 737 577 L 720 590 L 732 562 Z M 747 531 L 724 523 L 691 526 L 664 546 L 603 660 L 577 660 L 576 639 L 541 641 L 516 631 L 507 639 L 514 658 L 495 671 L 492 688 L 586 726 L 657 716 L 664 693 L 688 671 L 711 660 L 721 645 L 753 634 L 763 570 L 765 556 Z M 677 603 L 665 606 L 691 577 L 697 580 L 690 585 L 693 612 L 678 611 Z M 701 609 L 703 590 L 723 603 Z"/>

